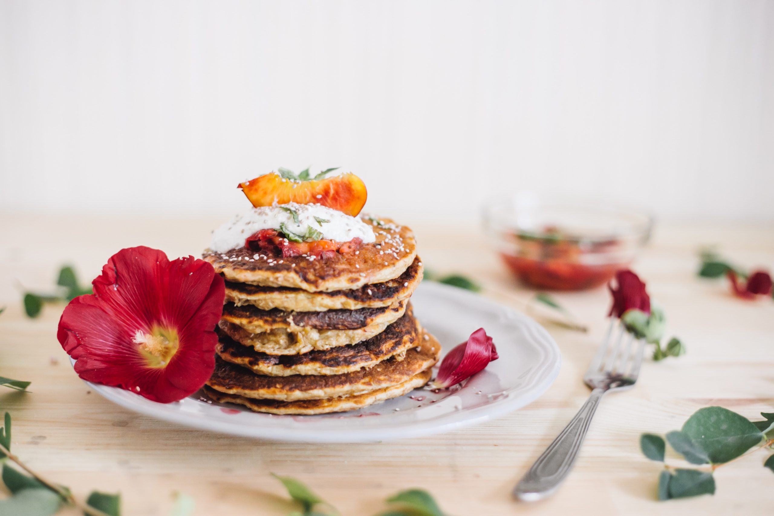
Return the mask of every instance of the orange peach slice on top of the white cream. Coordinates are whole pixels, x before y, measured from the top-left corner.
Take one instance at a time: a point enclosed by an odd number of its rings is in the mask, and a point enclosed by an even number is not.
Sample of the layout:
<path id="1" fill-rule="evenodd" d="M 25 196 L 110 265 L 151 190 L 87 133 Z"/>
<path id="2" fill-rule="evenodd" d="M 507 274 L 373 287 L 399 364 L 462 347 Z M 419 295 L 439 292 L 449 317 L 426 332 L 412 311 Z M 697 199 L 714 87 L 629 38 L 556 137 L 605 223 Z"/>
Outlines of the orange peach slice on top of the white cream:
<path id="1" fill-rule="evenodd" d="M 327 179 L 298 181 L 272 172 L 239 183 L 238 188 L 245 192 L 255 207 L 272 206 L 275 203 L 320 203 L 352 217 L 360 213 L 368 197 L 365 183 L 352 173 Z"/>

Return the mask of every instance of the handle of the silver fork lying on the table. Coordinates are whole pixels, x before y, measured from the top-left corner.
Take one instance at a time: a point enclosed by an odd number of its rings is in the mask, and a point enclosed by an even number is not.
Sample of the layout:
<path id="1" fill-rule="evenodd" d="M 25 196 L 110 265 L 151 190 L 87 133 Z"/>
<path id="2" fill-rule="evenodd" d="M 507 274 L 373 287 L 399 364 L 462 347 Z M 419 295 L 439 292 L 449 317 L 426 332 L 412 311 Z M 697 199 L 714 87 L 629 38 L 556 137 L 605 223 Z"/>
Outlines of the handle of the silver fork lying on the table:
<path id="1" fill-rule="evenodd" d="M 583 444 L 594 412 L 597 412 L 605 389 L 596 388 L 562 432 L 553 439 L 543 455 L 539 456 L 526 475 L 513 488 L 513 496 L 522 501 L 541 500 L 553 494 L 562 483 Z"/>

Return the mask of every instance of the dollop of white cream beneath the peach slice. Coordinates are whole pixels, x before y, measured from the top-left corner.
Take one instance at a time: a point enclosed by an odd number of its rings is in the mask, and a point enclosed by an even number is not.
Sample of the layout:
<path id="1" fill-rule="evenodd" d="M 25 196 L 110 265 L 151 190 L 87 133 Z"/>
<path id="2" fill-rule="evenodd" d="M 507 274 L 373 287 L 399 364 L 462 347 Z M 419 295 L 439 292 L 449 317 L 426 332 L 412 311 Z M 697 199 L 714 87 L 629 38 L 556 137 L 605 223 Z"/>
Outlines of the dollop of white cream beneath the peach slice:
<path id="1" fill-rule="evenodd" d="M 297 215 L 298 222 L 294 220 L 292 212 Z M 348 242 L 354 237 L 360 237 L 364 244 L 376 241 L 371 225 L 358 217 L 320 204 L 287 203 L 252 208 L 246 214 L 237 215 L 212 232 L 210 249 L 223 253 L 242 248 L 245 246 L 245 238 L 251 234 L 262 229 L 279 230 L 280 224 L 284 224 L 288 231 L 300 235 L 307 234 L 312 227 L 320 231 L 326 240 Z"/>

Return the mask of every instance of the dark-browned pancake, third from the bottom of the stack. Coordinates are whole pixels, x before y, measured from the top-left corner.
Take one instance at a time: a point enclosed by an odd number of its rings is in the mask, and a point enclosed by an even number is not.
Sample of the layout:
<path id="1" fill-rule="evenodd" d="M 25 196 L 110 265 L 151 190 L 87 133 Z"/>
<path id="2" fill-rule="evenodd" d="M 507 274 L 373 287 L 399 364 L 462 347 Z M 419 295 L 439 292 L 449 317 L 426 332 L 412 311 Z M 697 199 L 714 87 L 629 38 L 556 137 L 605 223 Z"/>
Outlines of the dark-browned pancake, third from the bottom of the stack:
<path id="1" fill-rule="evenodd" d="M 417 339 L 416 322 L 410 313 L 387 326 L 376 337 L 353 346 L 334 347 L 327 351 L 310 351 L 300 355 L 270 355 L 235 342 L 218 332 L 215 351 L 232 364 L 248 367 L 257 374 L 289 376 L 291 374 L 344 374 L 373 367 L 389 357 L 399 360 Z"/>

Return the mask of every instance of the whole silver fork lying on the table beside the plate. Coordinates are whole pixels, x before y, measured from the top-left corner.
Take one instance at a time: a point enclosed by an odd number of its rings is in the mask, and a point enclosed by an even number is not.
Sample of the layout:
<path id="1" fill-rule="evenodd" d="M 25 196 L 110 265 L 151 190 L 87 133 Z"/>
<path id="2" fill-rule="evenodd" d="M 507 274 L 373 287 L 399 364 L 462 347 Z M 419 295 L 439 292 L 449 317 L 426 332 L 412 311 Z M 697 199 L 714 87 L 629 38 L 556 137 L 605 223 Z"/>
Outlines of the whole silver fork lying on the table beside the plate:
<path id="1" fill-rule="evenodd" d="M 615 343 L 611 345 L 612 341 Z M 644 339 L 635 340 L 620 320 L 611 320 L 604 342 L 584 374 L 583 380 L 591 388 L 591 396 L 519 480 L 513 488 L 514 497 L 536 501 L 559 488 L 573 467 L 602 396 L 609 391 L 632 388 L 637 381 L 645 344 Z"/>

